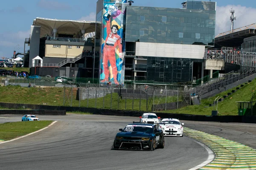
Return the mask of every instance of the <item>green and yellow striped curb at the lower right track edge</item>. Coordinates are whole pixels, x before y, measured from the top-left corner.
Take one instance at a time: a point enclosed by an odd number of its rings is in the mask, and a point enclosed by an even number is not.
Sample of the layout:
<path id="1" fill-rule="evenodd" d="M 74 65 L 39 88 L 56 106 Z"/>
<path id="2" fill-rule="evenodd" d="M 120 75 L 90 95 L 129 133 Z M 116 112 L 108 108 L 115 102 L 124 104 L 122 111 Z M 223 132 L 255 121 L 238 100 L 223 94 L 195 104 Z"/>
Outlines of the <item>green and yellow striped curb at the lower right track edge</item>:
<path id="1" fill-rule="evenodd" d="M 238 142 L 184 127 L 184 134 L 209 147 L 215 159 L 200 170 L 256 170 L 256 150 Z"/>

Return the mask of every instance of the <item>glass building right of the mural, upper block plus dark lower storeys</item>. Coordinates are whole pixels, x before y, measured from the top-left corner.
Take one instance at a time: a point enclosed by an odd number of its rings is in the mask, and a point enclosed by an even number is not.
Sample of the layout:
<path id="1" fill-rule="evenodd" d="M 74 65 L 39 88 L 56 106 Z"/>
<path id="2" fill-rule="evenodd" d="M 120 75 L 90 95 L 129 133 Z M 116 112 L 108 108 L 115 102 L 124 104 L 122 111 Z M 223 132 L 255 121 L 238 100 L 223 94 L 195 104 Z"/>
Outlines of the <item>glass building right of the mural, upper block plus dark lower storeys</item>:
<path id="1" fill-rule="evenodd" d="M 127 6 L 126 51 L 137 51 L 136 44 L 139 42 L 148 43 L 146 48 L 159 43 L 189 45 L 186 47 L 191 48 L 191 53 L 195 47 L 193 45 L 214 46 L 216 3 L 187 0 L 182 5 L 183 8 Z M 181 53 L 184 52 L 181 50 Z M 188 56 L 134 54 L 134 79 L 131 81 L 169 84 L 192 82 L 193 77 L 201 78 L 204 60 L 202 57 Z M 127 57 L 127 61 L 131 63 L 131 56 Z M 125 72 L 125 76 L 132 77 L 128 74 L 131 71 Z"/>

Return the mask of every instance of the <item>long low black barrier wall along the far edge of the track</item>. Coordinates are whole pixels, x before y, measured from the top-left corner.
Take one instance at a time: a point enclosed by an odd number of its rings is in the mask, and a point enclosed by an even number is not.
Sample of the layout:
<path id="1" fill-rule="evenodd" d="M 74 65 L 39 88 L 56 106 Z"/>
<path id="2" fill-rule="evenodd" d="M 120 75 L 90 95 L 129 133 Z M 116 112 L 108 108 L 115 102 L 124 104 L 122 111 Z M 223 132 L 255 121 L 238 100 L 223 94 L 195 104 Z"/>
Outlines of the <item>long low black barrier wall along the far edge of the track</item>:
<path id="1" fill-rule="evenodd" d="M 79 107 L 68 107 L 68 106 L 47 106 L 47 105 L 29 105 L 29 104 L 15 104 L 15 103 L 3 103 L 0 102 L 1 107 L 5 108 L 32 108 L 41 110 L 54 110 L 61 111 L 81 111 L 98 115 L 113 115 L 113 116 L 141 116 L 143 111 L 123 111 L 113 109 L 98 109 L 98 108 L 79 108 Z M 22 112 L 22 115 L 27 113 L 28 110 Z M 33 113 L 33 112 L 32 112 Z M 238 123 L 256 123 L 256 116 L 204 116 L 204 115 L 188 115 L 188 114 L 177 114 L 177 113 L 160 113 L 155 112 L 157 116 L 163 118 L 176 118 L 180 120 L 190 121 L 206 121 L 206 122 L 238 122 Z M 34 113 L 33 113 L 34 114 Z M 35 113 L 36 114 L 36 113 Z"/>

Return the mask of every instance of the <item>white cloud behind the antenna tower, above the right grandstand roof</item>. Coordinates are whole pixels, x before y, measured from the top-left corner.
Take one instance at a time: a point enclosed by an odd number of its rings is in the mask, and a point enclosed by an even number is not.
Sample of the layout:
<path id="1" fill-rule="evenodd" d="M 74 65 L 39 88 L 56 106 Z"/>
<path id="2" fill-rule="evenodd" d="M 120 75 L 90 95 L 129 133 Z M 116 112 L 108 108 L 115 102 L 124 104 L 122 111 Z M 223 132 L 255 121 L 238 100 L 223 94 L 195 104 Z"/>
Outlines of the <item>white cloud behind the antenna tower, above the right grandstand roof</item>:
<path id="1" fill-rule="evenodd" d="M 256 8 L 248 8 L 241 5 L 217 6 L 215 35 L 231 30 L 231 8 L 235 10 L 234 17 L 236 17 L 236 20 L 234 21 L 234 29 L 256 23 L 256 19 L 253 17 L 256 14 Z"/>

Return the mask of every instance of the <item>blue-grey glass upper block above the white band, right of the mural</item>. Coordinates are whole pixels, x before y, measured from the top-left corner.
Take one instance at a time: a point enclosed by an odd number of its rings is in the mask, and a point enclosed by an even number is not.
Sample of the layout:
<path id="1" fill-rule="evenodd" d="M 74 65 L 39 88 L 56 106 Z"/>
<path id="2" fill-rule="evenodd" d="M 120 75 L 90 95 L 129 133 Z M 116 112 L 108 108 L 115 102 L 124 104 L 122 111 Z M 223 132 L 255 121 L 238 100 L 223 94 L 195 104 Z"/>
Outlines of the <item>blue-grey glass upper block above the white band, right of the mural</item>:
<path id="1" fill-rule="evenodd" d="M 212 46 L 215 4 L 188 0 L 183 8 L 127 6 L 125 41 Z"/>

